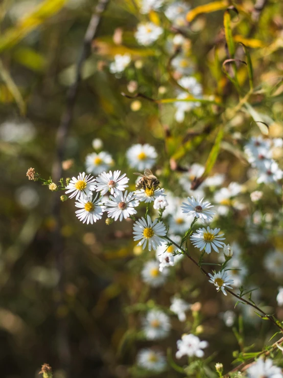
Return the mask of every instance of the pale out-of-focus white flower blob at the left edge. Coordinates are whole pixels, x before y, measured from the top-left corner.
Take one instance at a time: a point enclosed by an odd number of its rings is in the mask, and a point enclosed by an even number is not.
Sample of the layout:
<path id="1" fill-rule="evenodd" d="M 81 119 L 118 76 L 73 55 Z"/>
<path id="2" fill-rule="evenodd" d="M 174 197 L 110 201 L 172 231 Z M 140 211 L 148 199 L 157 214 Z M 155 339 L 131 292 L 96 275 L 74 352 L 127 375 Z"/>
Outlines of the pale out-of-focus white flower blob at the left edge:
<path id="1" fill-rule="evenodd" d="M 5 121 L 0 126 L 0 139 L 8 143 L 27 143 L 35 137 L 30 121 Z"/>

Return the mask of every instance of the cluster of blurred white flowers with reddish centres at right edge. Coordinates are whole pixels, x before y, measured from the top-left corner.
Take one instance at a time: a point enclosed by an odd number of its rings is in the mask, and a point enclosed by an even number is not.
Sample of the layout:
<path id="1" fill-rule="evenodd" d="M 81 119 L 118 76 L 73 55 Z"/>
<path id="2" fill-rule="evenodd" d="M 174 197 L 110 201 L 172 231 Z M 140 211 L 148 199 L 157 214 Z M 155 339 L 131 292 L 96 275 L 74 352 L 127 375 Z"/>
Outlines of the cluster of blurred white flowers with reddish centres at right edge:
<path id="1" fill-rule="evenodd" d="M 257 169 L 257 184 L 274 184 L 283 177 L 283 171 L 272 159 L 273 149 L 282 148 L 283 140 L 263 139 L 262 137 L 251 138 L 245 145 L 245 152 L 249 163 Z"/>

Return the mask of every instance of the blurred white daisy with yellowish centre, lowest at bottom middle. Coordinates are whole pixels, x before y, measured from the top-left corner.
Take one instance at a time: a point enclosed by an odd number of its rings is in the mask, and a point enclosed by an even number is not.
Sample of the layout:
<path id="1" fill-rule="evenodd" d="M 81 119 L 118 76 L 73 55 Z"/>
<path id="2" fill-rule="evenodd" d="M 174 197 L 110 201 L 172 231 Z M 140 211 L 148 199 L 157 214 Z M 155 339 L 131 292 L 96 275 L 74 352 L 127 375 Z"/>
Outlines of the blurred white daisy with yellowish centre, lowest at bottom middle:
<path id="1" fill-rule="evenodd" d="M 137 366 L 150 371 L 163 371 L 166 368 L 166 358 L 156 350 L 145 348 L 137 354 Z"/>

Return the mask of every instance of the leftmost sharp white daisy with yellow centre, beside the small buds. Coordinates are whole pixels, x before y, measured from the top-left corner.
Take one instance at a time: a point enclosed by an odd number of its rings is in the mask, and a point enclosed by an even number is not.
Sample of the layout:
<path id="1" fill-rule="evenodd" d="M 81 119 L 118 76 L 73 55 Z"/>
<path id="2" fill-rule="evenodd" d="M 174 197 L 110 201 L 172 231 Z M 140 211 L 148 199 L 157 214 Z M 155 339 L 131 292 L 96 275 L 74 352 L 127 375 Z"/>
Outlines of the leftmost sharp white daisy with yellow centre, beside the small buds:
<path id="1" fill-rule="evenodd" d="M 95 179 L 92 176 L 87 175 L 83 172 L 78 175 L 78 179 L 76 177 L 72 177 L 69 184 L 66 186 L 68 189 L 65 193 L 71 193 L 69 195 L 70 198 L 76 196 L 76 199 L 83 198 L 84 196 L 89 196 L 92 194 L 92 191 L 96 190 L 95 186 Z"/>

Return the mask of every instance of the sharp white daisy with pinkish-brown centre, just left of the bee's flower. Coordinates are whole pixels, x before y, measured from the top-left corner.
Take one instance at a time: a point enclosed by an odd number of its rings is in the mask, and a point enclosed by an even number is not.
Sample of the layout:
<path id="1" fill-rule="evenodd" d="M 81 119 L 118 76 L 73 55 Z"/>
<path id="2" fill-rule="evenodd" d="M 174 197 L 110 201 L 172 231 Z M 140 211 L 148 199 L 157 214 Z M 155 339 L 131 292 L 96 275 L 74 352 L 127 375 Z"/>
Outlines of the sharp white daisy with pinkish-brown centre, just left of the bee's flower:
<path id="1" fill-rule="evenodd" d="M 106 194 L 110 191 L 111 194 L 118 194 L 121 191 L 128 188 L 129 185 L 126 185 L 129 181 L 126 177 L 126 173 L 120 176 L 121 171 L 114 171 L 113 173 L 109 171 L 108 173 L 103 172 L 98 177 L 96 177 L 96 187 L 97 192 L 101 192 L 101 195 Z"/>

